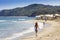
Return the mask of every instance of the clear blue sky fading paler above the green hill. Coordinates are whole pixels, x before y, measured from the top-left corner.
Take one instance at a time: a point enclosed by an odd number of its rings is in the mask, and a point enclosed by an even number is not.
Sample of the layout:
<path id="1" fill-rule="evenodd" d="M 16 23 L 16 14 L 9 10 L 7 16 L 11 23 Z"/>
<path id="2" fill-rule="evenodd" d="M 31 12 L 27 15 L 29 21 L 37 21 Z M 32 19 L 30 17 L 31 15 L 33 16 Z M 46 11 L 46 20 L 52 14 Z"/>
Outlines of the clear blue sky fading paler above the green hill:
<path id="1" fill-rule="evenodd" d="M 60 0 L 0 0 L 0 10 L 24 7 L 30 4 L 60 6 Z"/>

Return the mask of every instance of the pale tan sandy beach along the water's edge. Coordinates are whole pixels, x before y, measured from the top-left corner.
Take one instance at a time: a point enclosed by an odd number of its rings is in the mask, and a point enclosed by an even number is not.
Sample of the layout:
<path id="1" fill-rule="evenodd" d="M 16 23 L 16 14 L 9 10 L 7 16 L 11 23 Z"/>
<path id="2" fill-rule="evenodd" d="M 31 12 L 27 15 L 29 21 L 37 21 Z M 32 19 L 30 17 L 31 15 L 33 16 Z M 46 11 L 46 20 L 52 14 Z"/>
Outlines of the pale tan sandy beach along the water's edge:
<path id="1" fill-rule="evenodd" d="M 28 35 L 20 38 L 19 40 L 60 40 L 60 19 L 46 21 L 46 23 L 51 24 L 49 27 L 43 28 L 41 32 L 38 32 L 38 36 L 35 34 Z M 32 20 L 31 22 L 44 22 L 44 20 Z"/>

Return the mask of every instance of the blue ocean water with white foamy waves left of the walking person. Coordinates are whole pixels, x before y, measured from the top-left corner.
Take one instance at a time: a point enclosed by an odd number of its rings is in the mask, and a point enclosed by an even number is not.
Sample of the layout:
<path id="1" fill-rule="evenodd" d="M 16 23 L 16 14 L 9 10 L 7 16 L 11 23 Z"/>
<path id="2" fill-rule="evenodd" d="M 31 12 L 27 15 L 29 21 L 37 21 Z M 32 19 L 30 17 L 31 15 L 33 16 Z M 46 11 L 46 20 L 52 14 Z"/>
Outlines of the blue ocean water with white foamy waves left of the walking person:
<path id="1" fill-rule="evenodd" d="M 32 32 L 35 17 L 0 17 L 0 40 L 14 40 L 26 33 Z"/>

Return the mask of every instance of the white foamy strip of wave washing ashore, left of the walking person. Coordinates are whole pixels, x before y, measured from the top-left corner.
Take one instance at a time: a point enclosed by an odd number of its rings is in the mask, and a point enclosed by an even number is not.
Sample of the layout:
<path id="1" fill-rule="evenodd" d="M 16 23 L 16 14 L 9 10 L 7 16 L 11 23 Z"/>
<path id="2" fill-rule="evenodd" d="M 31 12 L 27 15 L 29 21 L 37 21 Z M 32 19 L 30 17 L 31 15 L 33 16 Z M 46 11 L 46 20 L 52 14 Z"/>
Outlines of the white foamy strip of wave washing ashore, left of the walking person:
<path id="1" fill-rule="evenodd" d="M 27 33 L 33 32 L 33 31 L 34 31 L 34 28 L 31 27 L 30 29 L 25 30 L 24 32 L 20 32 L 20 33 L 15 33 L 15 34 L 13 34 L 12 36 L 5 38 L 5 40 L 13 40 L 13 39 L 15 39 L 15 38 L 21 37 L 21 36 L 23 36 L 24 34 L 27 34 Z"/>

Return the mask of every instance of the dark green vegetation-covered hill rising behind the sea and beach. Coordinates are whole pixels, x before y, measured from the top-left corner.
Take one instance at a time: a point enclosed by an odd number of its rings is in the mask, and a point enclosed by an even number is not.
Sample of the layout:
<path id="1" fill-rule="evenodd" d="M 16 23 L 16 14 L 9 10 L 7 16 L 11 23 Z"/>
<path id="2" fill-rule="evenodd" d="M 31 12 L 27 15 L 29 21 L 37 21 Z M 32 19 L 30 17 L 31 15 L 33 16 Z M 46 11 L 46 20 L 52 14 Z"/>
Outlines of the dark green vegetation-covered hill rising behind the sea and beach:
<path id="1" fill-rule="evenodd" d="M 40 14 L 60 14 L 60 6 L 31 4 L 9 10 L 1 10 L 0 16 L 36 16 Z"/>

